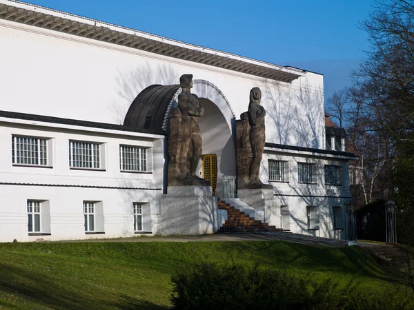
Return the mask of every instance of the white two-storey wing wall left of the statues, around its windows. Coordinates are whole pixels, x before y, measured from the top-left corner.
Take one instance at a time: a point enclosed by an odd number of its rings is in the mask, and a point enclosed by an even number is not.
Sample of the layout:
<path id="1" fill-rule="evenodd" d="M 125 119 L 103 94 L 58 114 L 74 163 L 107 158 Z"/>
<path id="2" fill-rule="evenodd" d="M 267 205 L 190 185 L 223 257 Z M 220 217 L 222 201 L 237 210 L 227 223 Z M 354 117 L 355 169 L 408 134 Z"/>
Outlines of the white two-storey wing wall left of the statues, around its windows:
<path id="1" fill-rule="evenodd" d="M 52 143 L 52 167 L 12 165 L 12 135 L 41 136 Z M 105 145 L 104 171 L 70 169 L 69 140 L 92 141 Z M 152 174 L 120 172 L 119 145 L 149 147 L 148 167 Z M 144 230 L 157 233 L 159 199 L 164 160 L 159 154 L 163 143 L 152 138 L 79 132 L 30 125 L 0 123 L 0 241 L 63 240 L 135 236 L 132 203 L 143 205 Z M 153 158 L 157 158 L 154 161 Z M 5 185 L 14 183 L 17 185 Z M 22 183 L 39 184 L 28 186 Z M 43 185 L 55 186 L 43 186 Z M 60 186 L 57 186 L 60 185 Z M 74 187 L 88 185 L 88 188 Z M 98 188 L 115 187 L 115 188 Z M 125 189 L 125 187 L 127 189 Z M 128 189 L 129 188 L 129 189 Z M 144 189 L 130 189 L 144 188 Z M 146 189 L 148 188 L 148 189 Z M 51 236 L 28 236 L 27 200 L 46 200 L 50 211 Z M 96 201 L 103 207 L 105 234 L 86 235 L 83 227 L 83 201 Z M 151 218 L 152 221 L 151 225 Z"/>

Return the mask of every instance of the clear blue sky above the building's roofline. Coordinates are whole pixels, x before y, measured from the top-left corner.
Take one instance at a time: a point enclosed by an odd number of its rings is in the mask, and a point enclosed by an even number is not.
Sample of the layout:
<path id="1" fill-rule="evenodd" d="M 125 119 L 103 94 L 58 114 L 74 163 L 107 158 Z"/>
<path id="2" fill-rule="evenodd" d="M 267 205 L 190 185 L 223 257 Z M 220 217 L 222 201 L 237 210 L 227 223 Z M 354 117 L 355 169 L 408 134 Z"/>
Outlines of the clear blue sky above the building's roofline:
<path id="1" fill-rule="evenodd" d="M 350 85 L 368 50 L 357 28 L 371 0 L 30 0 L 39 6 L 99 19 L 277 65 L 324 74 L 325 96 Z"/>

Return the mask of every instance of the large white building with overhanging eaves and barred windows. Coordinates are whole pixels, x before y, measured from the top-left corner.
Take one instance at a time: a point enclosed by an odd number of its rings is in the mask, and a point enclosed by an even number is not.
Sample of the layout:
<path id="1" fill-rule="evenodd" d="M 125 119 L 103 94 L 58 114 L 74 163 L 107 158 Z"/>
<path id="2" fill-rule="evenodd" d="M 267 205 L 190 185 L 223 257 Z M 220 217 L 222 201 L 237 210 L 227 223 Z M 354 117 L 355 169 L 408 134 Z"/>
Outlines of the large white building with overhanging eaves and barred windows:
<path id="1" fill-rule="evenodd" d="M 235 119 L 257 86 L 261 179 L 279 201 L 270 224 L 344 238 L 354 156 L 326 149 L 321 74 L 11 0 L 0 0 L 0 51 L 0 241 L 157 234 L 168 111 L 185 73 L 206 110 L 215 196 L 237 176 Z"/>

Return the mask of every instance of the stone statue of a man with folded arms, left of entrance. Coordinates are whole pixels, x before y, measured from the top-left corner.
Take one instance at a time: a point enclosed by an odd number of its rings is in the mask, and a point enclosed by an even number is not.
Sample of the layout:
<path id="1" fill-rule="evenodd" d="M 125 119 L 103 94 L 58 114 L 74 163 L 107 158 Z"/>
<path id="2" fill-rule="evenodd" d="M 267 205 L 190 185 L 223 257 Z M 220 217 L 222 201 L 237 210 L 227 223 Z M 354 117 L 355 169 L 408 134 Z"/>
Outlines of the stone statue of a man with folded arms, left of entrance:
<path id="1" fill-rule="evenodd" d="M 201 157 L 201 132 L 198 118 L 204 116 L 204 109 L 195 94 L 191 94 L 193 74 L 179 78 L 181 94 L 178 95 L 178 109 L 181 114 L 179 138 L 179 169 L 181 179 L 202 180 L 195 174 Z"/>

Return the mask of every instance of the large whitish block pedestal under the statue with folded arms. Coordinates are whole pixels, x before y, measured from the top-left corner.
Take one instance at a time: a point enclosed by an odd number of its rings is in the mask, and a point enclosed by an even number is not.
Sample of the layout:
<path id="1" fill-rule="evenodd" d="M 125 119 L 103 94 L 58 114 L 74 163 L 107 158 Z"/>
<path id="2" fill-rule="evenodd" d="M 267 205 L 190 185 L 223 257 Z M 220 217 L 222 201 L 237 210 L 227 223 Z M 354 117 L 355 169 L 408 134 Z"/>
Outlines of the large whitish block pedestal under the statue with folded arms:
<path id="1" fill-rule="evenodd" d="M 213 234 L 219 229 L 219 209 L 210 186 L 168 186 L 161 197 L 160 234 Z"/>

